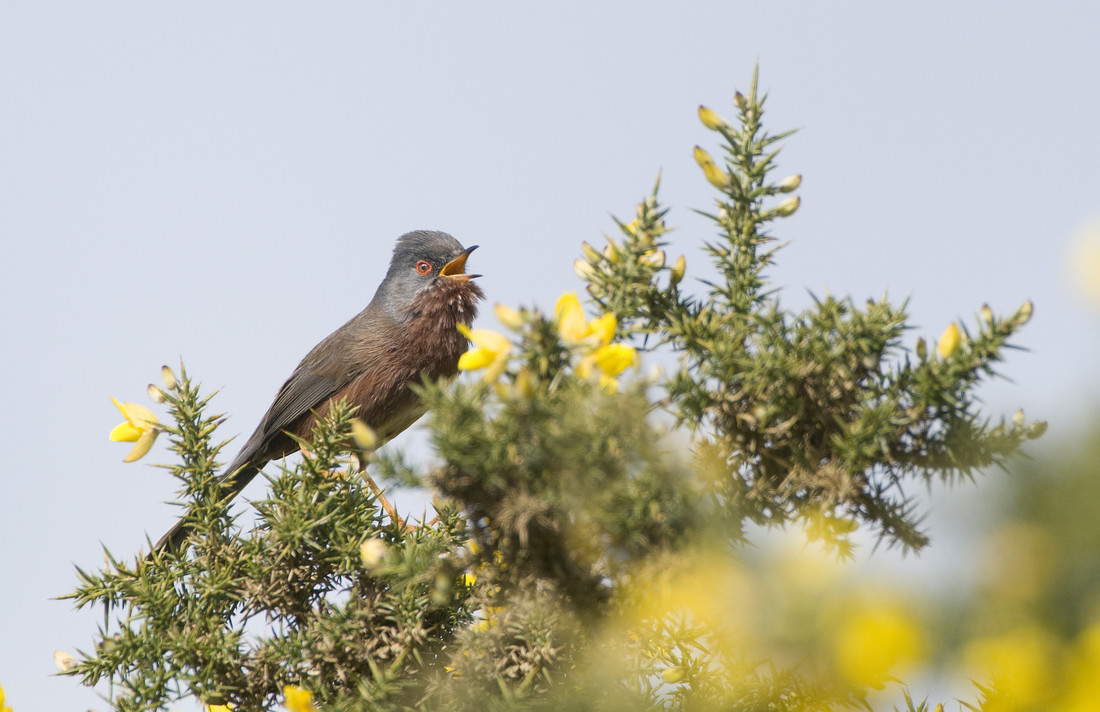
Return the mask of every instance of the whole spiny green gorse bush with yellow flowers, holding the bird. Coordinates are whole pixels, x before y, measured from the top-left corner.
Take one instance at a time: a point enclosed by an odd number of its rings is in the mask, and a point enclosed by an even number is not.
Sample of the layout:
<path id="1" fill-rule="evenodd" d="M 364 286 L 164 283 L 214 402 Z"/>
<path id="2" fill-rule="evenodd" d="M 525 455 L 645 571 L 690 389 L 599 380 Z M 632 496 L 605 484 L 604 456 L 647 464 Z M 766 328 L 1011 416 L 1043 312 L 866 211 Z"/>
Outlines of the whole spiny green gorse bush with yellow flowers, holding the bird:
<path id="1" fill-rule="evenodd" d="M 717 276 L 684 288 L 654 189 L 606 247 L 583 245 L 597 318 L 569 296 L 553 314 L 504 307 L 510 335 L 471 335 L 485 377 L 421 386 L 427 471 L 362 432 L 352 446 L 354 413 L 336 407 L 241 526 L 217 484 L 219 416 L 186 372 L 167 380 L 156 427 L 193 535 L 79 571 L 69 598 L 103 623 L 67 672 L 120 711 L 825 710 L 921 665 L 921 602 L 833 571 L 859 528 L 920 550 L 914 486 L 1042 434 L 975 398 L 1031 305 L 982 307 L 913 350 L 884 297 L 783 309 L 771 231 L 801 177 L 773 178 L 787 134 L 765 131 L 763 103 L 754 76 L 733 121 L 700 111 L 724 151 L 695 151 L 717 190 Z M 652 349 L 679 366 L 624 374 Z M 384 506 L 364 463 L 431 486 L 430 521 Z M 751 524 L 824 552 L 747 556 Z"/>

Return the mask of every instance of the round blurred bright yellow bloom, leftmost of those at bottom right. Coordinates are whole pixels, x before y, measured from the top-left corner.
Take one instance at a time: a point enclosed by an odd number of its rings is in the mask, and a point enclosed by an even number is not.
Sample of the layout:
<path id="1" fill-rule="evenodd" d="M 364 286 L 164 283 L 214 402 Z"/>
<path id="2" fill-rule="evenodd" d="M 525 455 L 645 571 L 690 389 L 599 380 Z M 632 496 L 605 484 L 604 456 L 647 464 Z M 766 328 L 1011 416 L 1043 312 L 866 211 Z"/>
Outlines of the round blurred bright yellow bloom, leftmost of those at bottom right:
<path id="1" fill-rule="evenodd" d="M 924 639 L 916 621 L 891 601 L 867 601 L 839 623 L 833 642 L 844 678 L 857 686 L 881 687 L 899 665 L 916 662 Z"/>

